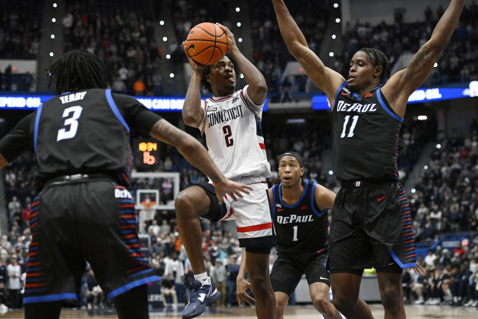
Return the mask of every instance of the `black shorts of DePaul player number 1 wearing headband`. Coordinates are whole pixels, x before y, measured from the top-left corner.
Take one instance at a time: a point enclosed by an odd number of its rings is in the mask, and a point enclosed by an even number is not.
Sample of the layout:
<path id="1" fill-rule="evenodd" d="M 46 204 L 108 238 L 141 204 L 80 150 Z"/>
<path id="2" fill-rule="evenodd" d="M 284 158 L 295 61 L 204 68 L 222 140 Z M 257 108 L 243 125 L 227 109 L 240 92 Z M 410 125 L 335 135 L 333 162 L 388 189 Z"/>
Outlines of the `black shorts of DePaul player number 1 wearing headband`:
<path id="1" fill-rule="evenodd" d="M 278 254 L 272 266 L 270 284 L 274 292 L 292 295 L 305 274 L 307 283 L 324 283 L 330 287 L 330 275 L 325 269 L 327 252 L 307 254 Z"/>

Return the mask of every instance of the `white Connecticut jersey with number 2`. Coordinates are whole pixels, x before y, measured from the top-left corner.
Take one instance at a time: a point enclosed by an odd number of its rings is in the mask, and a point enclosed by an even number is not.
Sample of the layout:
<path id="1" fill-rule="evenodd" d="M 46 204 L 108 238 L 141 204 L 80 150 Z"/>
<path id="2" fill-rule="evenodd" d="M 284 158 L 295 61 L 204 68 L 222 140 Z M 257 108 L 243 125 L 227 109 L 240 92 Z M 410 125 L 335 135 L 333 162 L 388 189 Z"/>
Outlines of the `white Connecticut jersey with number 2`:
<path id="1" fill-rule="evenodd" d="M 270 177 L 270 165 L 260 124 L 263 104 L 249 99 L 247 87 L 203 101 L 205 116 L 199 130 L 205 132 L 209 155 L 227 178 L 265 180 Z"/>

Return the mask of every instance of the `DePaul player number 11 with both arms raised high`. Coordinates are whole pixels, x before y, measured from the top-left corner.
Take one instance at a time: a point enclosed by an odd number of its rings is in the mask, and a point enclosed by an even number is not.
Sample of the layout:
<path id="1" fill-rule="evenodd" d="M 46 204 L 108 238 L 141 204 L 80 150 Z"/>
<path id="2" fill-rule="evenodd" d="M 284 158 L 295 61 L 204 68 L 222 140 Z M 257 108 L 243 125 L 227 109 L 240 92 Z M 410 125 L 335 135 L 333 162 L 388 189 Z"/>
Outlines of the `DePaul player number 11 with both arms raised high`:
<path id="1" fill-rule="evenodd" d="M 332 213 L 328 267 L 334 306 L 347 318 L 373 318 L 359 298 L 363 269 L 377 270 L 385 318 L 405 318 L 402 269 L 416 264 L 411 216 L 398 180 L 398 135 L 408 97 L 428 77 L 465 0 L 451 0 L 431 38 L 406 69 L 390 77 L 385 55 L 357 51 L 346 80 L 309 49 L 283 0 L 272 0 L 290 53 L 332 107 L 333 166 L 342 188 Z"/>

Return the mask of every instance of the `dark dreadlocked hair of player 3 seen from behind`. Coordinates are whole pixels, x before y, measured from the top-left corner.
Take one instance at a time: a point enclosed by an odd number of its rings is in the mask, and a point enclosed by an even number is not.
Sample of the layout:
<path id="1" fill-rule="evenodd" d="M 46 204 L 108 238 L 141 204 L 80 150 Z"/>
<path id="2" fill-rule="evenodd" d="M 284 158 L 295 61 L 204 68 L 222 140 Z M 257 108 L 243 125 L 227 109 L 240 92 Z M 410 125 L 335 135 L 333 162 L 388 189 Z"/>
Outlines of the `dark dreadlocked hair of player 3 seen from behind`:
<path id="1" fill-rule="evenodd" d="M 45 71 L 51 76 L 48 87 L 52 79 L 56 82 L 55 94 L 108 87 L 103 63 L 87 50 L 69 51 Z"/>

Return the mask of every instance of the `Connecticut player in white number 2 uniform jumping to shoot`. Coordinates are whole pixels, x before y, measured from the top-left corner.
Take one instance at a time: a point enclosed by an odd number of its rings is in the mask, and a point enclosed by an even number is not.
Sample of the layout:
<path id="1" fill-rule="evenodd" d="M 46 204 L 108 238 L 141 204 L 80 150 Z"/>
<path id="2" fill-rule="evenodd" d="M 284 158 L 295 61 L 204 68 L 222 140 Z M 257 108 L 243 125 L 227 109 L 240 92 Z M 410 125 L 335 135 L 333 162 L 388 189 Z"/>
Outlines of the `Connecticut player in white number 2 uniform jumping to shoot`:
<path id="1" fill-rule="evenodd" d="M 246 267 L 256 296 L 257 318 L 274 319 L 275 299 L 268 267 L 272 220 L 265 182 L 270 176 L 270 165 L 261 129 L 267 86 L 259 70 L 240 53 L 233 33 L 218 25 L 227 34 L 229 52 L 213 65 L 196 63 L 183 42 L 192 69 L 183 118 L 187 125 L 199 128 L 206 135 L 209 154 L 225 176 L 248 184 L 253 190 L 237 204 L 229 204 L 230 198 L 227 197 L 220 205 L 213 196 L 215 186 L 212 183 L 197 183 L 176 198 L 179 232 L 196 279 L 183 318 L 201 315 L 220 297 L 204 266 L 201 216 L 213 221 L 236 220 L 239 244 L 245 247 L 247 254 Z M 248 85 L 236 91 L 236 80 L 241 71 Z M 200 86 L 214 97 L 202 101 Z"/>

